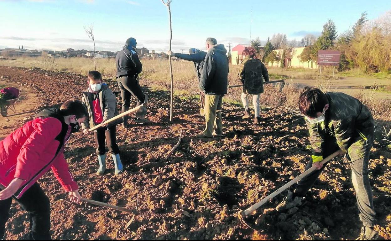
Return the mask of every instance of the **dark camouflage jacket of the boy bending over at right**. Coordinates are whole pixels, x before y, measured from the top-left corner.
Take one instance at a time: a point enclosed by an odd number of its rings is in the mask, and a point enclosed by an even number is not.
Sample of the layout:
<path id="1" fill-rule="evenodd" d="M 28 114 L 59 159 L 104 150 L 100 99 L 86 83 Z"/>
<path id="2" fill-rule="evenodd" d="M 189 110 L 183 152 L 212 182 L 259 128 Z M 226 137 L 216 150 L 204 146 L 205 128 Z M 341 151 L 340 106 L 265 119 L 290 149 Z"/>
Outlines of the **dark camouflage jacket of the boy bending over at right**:
<path id="1" fill-rule="evenodd" d="M 325 121 L 310 124 L 306 120 L 313 155 L 321 156 L 324 140 L 335 137 L 339 148 L 347 151 L 352 161 L 364 157 L 373 141 L 375 121 L 371 112 L 352 96 L 339 92 L 325 94 L 330 104 Z"/>

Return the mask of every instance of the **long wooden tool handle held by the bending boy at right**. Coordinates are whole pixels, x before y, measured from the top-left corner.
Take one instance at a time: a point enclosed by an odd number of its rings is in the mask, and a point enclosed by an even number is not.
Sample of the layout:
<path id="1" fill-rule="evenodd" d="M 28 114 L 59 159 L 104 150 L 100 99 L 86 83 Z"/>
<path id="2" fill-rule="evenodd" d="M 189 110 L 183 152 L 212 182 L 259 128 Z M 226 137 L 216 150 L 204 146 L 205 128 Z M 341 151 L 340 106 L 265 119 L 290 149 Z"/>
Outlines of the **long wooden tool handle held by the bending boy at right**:
<path id="1" fill-rule="evenodd" d="M 330 161 L 331 159 L 333 159 L 334 157 L 336 157 L 339 154 L 341 154 L 341 150 L 338 150 L 338 151 L 334 152 L 333 154 L 329 155 L 328 157 L 323 159 L 323 161 L 321 161 L 321 163 L 325 164 L 326 162 Z M 312 173 L 315 170 L 316 170 L 316 168 L 314 166 L 312 166 L 310 169 L 308 169 L 307 171 L 301 173 L 295 179 L 291 180 L 290 182 L 288 182 L 284 186 L 280 187 L 279 189 L 277 189 L 276 191 L 271 193 L 269 196 L 265 197 L 264 199 L 260 200 L 256 204 L 252 205 L 251 207 L 249 207 L 248 209 L 243 211 L 242 212 L 242 216 L 246 217 L 248 214 L 250 214 L 254 210 L 258 209 L 260 206 L 264 205 L 266 202 L 268 202 L 269 200 L 271 200 L 272 198 L 274 198 L 278 194 L 282 193 L 285 189 L 287 189 L 288 187 L 292 186 L 293 184 L 298 182 L 300 179 L 302 179 L 303 177 L 306 177 L 307 175 L 309 175 L 310 173 Z"/>

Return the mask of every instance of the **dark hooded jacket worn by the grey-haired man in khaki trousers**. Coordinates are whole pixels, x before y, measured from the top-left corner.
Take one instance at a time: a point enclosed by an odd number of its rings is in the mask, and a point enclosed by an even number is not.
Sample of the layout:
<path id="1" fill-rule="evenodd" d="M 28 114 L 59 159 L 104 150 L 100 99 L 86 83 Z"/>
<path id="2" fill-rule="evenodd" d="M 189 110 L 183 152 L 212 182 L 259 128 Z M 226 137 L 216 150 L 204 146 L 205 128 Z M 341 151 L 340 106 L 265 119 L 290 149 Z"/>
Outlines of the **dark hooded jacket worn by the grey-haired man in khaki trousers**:
<path id="1" fill-rule="evenodd" d="M 224 45 L 213 45 L 205 56 L 199 89 L 205 95 L 225 95 L 228 90 L 228 57 Z"/>

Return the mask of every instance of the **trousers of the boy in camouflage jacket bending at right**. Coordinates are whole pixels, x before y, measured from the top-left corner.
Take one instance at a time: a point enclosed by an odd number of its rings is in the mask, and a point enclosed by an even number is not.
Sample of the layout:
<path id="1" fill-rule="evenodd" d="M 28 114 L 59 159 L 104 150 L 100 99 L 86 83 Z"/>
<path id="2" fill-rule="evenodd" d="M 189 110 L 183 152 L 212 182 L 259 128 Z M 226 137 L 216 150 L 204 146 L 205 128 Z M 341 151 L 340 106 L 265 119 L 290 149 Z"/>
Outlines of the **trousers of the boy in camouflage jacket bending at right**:
<path id="1" fill-rule="evenodd" d="M 361 137 L 353 138 L 354 143 L 348 148 L 347 159 L 352 170 L 352 182 L 356 192 L 357 206 L 359 208 L 359 217 L 364 226 L 373 227 L 375 224 L 375 210 L 373 207 L 373 194 L 368 177 L 369 152 L 373 145 L 373 134 L 366 136 L 368 140 Z M 339 147 L 335 137 L 326 139 L 323 143 L 323 158 L 333 154 Z M 307 191 L 314 185 L 316 179 L 323 171 L 326 165 L 321 170 L 314 171 L 307 177 L 301 179 L 294 190 L 294 196 L 305 196 Z M 312 159 L 307 163 L 305 170 L 312 167 Z"/>

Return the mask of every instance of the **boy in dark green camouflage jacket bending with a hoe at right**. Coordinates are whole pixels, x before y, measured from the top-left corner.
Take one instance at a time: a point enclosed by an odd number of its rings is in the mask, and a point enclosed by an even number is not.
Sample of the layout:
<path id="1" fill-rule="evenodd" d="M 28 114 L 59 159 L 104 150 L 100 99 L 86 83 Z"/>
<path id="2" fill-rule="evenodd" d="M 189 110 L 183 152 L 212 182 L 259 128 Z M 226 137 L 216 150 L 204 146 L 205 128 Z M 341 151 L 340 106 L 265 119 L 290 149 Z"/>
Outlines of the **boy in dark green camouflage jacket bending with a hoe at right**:
<path id="1" fill-rule="evenodd" d="M 305 170 L 315 166 L 317 171 L 301 179 L 294 191 L 277 206 L 287 211 L 300 206 L 303 197 L 312 187 L 325 165 L 323 158 L 341 150 L 352 169 L 352 182 L 356 192 L 359 217 L 363 227 L 359 240 L 374 240 L 375 211 L 368 177 L 369 152 L 374 138 L 375 121 L 371 112 L 359 100 L 339 92 L 326 92 L 306 87 L 299 98 L 300 112 L 305 116 L 312 146 L 311 160 Z"/>

